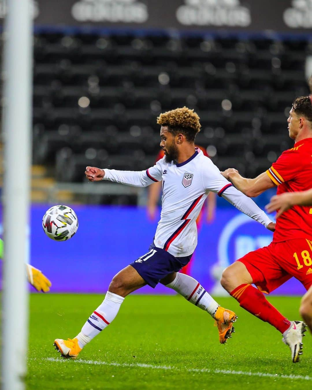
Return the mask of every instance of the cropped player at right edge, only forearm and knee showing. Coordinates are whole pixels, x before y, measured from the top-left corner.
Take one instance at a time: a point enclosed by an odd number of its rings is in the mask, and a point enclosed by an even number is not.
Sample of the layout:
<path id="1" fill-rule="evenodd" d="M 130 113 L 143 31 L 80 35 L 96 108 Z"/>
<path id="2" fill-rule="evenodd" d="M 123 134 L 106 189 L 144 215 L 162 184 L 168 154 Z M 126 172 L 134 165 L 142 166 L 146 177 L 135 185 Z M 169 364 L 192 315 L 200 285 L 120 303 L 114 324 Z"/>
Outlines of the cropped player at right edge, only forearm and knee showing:
<path id="1" fill-rule="evenodd" d="M 278 211 L 276 215 L 278 218 L 284 211 L 293 206 L 312 206 L 312 188 L 307 191 L 284 192 L 280 195 L 274 195 L 269 204 L 266 205 L 266 209 L 269 213 Z M 312 214 L 312 207 L 309 210 L 310 214 Z M 312 333 L 312 286 L 302 297 L 299 312 Z"/>

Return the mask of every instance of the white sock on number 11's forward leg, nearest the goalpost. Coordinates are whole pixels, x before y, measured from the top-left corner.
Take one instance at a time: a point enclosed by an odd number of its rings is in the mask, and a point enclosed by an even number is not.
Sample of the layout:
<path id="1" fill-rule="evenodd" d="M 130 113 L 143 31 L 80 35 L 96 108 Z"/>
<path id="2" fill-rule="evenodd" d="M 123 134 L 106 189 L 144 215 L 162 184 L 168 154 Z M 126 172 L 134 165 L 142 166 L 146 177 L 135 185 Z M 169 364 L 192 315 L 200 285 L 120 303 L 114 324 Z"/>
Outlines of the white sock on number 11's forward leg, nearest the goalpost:
<path id="1" fill-rule="evenodd" d="M 83 325 L 81 332 L 76 336 L 80 348 L 88 344 L 113 321 L 123 301 L 122 296 L 107 291 L 104 301 L 94 310 Z"/>

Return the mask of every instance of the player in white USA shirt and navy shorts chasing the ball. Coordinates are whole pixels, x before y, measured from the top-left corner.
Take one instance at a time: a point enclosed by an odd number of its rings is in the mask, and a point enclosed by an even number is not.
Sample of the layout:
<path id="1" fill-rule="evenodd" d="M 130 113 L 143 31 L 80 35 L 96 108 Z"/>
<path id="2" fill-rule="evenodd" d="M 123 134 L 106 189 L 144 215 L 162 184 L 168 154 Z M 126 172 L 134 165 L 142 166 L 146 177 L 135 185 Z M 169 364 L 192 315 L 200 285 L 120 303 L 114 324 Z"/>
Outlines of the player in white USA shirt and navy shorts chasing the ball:
<path id="1" fill-rule="evenodd" d="M 89 181 L 104 179 L 140 187 L 162 181 L 162 210 L 149 251 L 113 277 L 104 301 L 74 339 L 54 341 L 64 357 L 76 358 L 113 321 L 128 294 L 146 284 L 154 288 L 159 282 L 207 311 L 216 321 L 222 344 L 234 331 L 235 313 L 218 305 L 197 280 L 178 272 L 190 261 L 196 248 L 196 218 L 208 192 L 213 191 L 269 230 L 274 230 L 275 224 L 251 199 L 236 190 L 209 158 L 195 149 L 195 135 L 200 131 L 197 113 L 186 107 L 177 108 L 162 113 L 157 123 L 161 126 L 160 146 L 165 157 L 153 167 L 141 172 L 86 168 Z"/>

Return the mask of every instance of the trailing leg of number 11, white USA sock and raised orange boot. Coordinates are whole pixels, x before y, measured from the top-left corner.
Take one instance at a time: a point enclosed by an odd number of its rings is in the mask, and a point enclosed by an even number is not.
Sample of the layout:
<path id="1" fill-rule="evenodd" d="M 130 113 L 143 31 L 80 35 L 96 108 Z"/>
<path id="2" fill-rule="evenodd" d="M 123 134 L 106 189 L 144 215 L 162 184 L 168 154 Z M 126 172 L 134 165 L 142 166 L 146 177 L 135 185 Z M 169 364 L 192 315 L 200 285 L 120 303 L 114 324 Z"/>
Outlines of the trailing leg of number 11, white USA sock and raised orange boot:
<path id="1" fill-rule="evenodd" d="M 231 337 L 231 333 L 234 332 L 232 323 L 237 318 L 235 313 L 221 307 L 197 280 L 180 272 L 172 272 L 160 282 L 184 296 L 193 305 L 208 312 L 216 320 L 221 344 Z"/>

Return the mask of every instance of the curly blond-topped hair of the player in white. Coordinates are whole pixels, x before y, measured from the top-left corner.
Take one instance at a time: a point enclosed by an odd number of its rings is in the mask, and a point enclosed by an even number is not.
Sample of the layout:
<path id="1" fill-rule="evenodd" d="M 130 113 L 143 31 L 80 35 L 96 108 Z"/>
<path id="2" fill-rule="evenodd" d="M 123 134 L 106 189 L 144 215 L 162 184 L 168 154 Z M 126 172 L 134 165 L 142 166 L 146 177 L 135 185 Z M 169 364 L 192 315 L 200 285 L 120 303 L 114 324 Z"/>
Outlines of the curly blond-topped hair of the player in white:
<path id="1" fill-rule="evenodd" d="M 184 106 L 160 114 L 157 123 L 161 126 L 168 126 L 170 133 L 176 135 L 181 132 L 189 142 L 194 142 L 196 134 L 200 131 L 199 119 L 193 109 Z"/>

